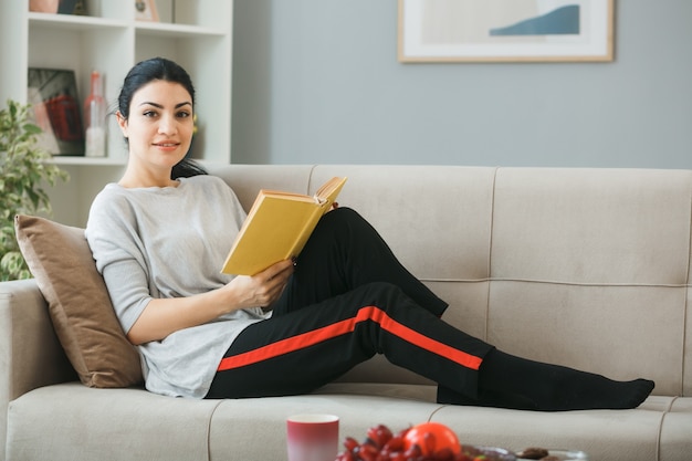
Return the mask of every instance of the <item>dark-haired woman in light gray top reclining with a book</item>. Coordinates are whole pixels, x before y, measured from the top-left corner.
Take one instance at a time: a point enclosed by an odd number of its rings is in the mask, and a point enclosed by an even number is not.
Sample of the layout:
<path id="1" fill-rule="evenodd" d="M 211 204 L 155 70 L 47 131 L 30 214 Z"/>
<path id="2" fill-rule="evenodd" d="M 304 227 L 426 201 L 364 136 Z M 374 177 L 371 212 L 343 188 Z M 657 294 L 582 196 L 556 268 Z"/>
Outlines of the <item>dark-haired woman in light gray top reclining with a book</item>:
<path id="1" fill-rule="evenodd" d="M 96 197 L 86 235 L 147 389 L 192 398 L 310 392 L 375 354 L 439 384 L 440 402 L 532 410 L 632 408 L 653 389 L 497 350 L 441 319 L 447 303 L 348 208 L 295 261 L 219 272 L 245 213 L 185 159 L 195 90 L 165 59 L 125 78 L 127 169 Z"/>

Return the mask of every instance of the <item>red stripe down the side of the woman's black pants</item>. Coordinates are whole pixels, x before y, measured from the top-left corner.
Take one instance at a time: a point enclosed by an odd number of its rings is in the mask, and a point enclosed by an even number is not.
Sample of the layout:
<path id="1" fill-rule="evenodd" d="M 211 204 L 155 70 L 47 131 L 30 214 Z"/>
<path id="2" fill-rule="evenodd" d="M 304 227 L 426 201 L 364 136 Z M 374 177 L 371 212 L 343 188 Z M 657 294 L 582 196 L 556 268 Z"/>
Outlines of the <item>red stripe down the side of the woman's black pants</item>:
<path id="1" fill-rule="evenodd" d="M 438 340 L 431 339 L 420 333 L 409 328 L 406 325 L 400 324 L 385 311 L 376 306 L 365 306 L 358 310 L 355 317 L 347 318 L 345 321 L 337 322 L 332 325 L 317 328 L 312 332 L 303 333 L 286 339 L 279 340 L 276 343 L 269 344 L 258 349 L 249 350 L 243 354 L 234 355 L 232 357 L 224 357 L 219 364 L 218 371 L 226 371 L 232 368 L 240 368 L 247 365 L 256 364 L 263 360 L 268 360 L 273 357 L 277 357 L 282 354 L 289 354 L 294 350 L 300 350 L 305 347 L 313 346 L 324 340 L 334 338 L 336 336 L 353 333 L 356 326 L 360 322 L 373 321 L 379 324 L 379 327 L 386 332 L 398 336 L 422 349 L 429 350 L 433 354 L 443 356 L 457 364 L 478 370 L 481 366 L 482 358 L 475 357 L 471 354 L 466 354 L 462 350 L 455 349 L 442 344 Z"/>

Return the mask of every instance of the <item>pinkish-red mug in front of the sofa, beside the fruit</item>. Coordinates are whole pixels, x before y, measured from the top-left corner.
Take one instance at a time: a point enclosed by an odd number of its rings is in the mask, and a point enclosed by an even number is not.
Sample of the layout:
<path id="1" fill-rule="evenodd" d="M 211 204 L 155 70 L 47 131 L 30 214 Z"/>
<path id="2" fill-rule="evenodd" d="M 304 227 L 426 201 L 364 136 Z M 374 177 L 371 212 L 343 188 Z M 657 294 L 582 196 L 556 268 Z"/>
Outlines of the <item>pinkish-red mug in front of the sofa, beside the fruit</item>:
<path id="1" fill-rule="evenodd" d="M 289 461 L 334 461 L 338 454 L 338 417 L 294 415 L 286 420 Z"/>

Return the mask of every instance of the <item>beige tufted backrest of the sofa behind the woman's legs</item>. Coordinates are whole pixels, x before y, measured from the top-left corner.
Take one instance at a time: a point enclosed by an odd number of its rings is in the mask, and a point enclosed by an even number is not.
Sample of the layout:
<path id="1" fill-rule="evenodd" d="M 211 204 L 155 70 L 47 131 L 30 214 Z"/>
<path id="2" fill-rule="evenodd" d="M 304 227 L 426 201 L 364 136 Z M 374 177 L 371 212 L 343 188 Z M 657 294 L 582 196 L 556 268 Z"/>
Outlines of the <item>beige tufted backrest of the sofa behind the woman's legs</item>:
<path id="1" fill-rule="evenodd" d="M 692 395 L 692 171 L 232 165 L 211 172 L 248 208 L 260 188 L 312 193 L 348 176 L 337 201 L 367 218 L 450 303 L 450 323 L 513 354 Z M 343 379 L 426 383 L 381 359 Z"/>

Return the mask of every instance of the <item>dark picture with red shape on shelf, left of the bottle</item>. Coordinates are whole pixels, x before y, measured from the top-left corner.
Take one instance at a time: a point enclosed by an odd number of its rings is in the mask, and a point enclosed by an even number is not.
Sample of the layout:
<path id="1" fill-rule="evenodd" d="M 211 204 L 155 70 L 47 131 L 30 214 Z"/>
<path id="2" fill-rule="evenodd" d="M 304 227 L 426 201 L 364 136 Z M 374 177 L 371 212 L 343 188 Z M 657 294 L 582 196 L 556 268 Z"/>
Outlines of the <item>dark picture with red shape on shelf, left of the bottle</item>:
<path id="1" fill-rule="evenodd" d="M 53 155 L 84 155 L 84 129 L 74 71 L 29 69 L 27 101 L 43 130 L 39 146 Z"/>

